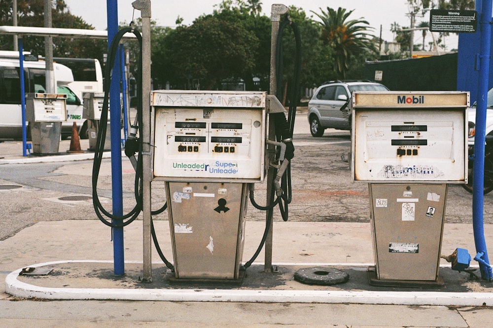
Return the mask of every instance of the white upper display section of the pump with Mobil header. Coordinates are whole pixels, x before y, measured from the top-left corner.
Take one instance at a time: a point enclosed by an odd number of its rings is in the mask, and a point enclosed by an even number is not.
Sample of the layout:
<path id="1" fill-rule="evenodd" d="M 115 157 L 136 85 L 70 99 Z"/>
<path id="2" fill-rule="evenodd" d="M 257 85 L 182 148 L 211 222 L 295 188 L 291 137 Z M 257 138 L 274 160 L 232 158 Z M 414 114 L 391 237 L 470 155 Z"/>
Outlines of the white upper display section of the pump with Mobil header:
<path id="1" fill-rule="evenodd" d="M 353 94 L 353 180 L 467 181 L 466 92 Z"/>

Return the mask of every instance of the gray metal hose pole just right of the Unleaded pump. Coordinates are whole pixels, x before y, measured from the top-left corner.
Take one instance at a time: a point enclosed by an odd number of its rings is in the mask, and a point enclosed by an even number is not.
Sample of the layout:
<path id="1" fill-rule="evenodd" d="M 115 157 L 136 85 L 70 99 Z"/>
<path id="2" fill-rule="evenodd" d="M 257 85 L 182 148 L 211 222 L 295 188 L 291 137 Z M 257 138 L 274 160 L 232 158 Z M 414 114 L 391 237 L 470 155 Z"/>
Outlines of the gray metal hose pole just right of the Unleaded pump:
<path id="1" fill-rule="evenodd" d="M 279 35 L 279 22 L 281 21 L 281 15 L 287 13 L 288 7 L 283 4 L 273 4 L 271 7 L 271 21 L 272 21 L 272 32 L 271 32 L 271 71 L 270 71 L 270 85 L 269 91 L 271 94 L 276 94 L 277 91 L 277 70 L 276 70 L 276 48 L 277 48 L 277 38 Z M 269 119 L 269 140 L 276 140 L 276 130 L 274 126 L 274 122 Z M 267 158 L 268 163 L 270 163 L 276 154 L 276 147 L 273 145 L 267 145 Z M 272 188 L 274 177 L 276 175 L 275 168 L 269 167 L 267 170 L 267 203 L 272 203 Z M 269 234 L 265 239 L 265 261 L 264 261 L 264 271 L 272 272 L 272 236 L 273 236 L 273 221 L 272 221 L 272 209 L 267 210 L 266 213 L 266 224 L 270 223 Z"/>

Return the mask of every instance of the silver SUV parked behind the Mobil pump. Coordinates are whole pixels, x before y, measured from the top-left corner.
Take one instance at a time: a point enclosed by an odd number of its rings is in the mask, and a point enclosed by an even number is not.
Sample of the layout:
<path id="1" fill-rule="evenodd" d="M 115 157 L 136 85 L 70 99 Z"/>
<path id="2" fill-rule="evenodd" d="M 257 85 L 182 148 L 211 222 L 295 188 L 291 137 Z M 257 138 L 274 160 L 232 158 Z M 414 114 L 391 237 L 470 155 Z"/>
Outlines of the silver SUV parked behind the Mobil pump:
<path id="1" fill-rule="evenodd" d="M 387 87 L 370 81 L 329 81 L 315 91 L 308 103 L 308 122 L 314 137 L 321 137 L 326 128 L 351 130 L 351 117 L 341 107 L 352 91 L 387 91 Z"/>

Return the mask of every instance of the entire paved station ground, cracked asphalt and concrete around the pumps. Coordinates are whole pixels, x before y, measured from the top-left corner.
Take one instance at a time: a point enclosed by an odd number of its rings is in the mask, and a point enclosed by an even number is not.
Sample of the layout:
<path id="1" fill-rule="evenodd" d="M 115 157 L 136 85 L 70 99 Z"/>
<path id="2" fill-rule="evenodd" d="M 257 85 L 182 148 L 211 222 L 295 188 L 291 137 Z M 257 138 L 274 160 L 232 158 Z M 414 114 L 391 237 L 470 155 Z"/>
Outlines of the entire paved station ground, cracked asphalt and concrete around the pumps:
<path id="1" fill-rule="evenodd" d="M 239 286 L 173 284 L 155 249 L 152 282 L 142 283 L 140 219 L 125 228 L 125 275 L 115 276 L 111 230 L 92 206 L 94 153 L 87 140 L 80 141 L 82 153 L 67 153 L 69 140 L 52 156 L 22 156 L 22 143 L 1 142 L 0 327 L 491 327 L 493 285 L 478 279 L 477 270 L 454 271 L 442 259 L 443 287 L 369 284 L 375 259 L 368 187 L 351 182 L 349 133 L 327 130 L 313 138 L 304 114 L 298 114 L 293 138 L 290 219 L 275 214 L 274 270 L 265 272 L 262 251 Z M 105 157 L 98 186 L 111 209 L 109 152 Z M 133 168 L 124 156 L 122 162 L 127 209 L 133 206 Z M 265 200 L 265 183 L 255 194 Z M 493 241 L 492 198 L 484 199 L 487 245 Z M 163 201 L 164 186 L 157 183 L 153 205 Z M 471 204 L 463 188 L 449 186 L 443 255 L 457 247 L 475 255 Z M 251 208 L 243 263 L 265 225 L 264 212 Z M 154 225 L 163 253 L 172 259 L 166 211 Z M 26 268 L 51 272 L 20 275 Z M 301 268 L 337 269 L 350 278 L 336 285 L 304 284 L 293 278 Z"/>

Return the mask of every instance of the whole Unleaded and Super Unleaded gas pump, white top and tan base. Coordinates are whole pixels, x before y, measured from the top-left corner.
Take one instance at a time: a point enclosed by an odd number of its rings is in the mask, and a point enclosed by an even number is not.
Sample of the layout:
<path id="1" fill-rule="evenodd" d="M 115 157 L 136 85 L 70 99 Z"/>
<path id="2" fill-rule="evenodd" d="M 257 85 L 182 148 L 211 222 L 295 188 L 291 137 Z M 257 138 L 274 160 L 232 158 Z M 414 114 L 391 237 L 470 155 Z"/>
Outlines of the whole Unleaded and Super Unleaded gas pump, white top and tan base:
<path id="1" fill-rule="evenodd" d="M 151 92 L 176 279 L 239 279 L 249 183 L 265 175 L 265 92 Z"/>

